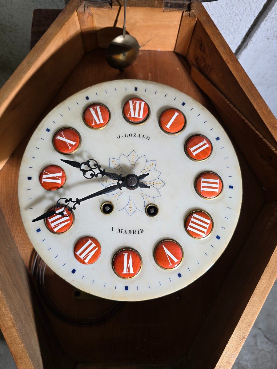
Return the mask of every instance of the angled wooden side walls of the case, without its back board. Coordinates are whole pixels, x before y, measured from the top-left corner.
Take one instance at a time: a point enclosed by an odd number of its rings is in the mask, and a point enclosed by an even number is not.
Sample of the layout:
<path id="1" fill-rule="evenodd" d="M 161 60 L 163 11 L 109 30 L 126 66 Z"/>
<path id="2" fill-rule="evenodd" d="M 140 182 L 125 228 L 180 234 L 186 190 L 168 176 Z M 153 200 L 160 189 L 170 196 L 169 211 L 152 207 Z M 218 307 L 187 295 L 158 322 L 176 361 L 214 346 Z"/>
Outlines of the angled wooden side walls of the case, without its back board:
<path id="1" fill-rule="evenodd" d="M 167 364 L 161 363 L 158 349 L 153 353 L 153 365 L 134 359 L 131 366 L 118 363 L 110 367 L 228 369 L 276 279 L 276 119 L 199 1 L 191 1 L 190 11 L 170 11 L 164 10 L 162 0 L 130 0 L 128 14 L 133 20 L 128 31 L 142 50 L 175 52 L 187 60 L 191 80 L 209 97 L 240 152 L 242 169 L 251 173 L 253 188 L 244 192 L 243 201 L 245 206 L 254 203 L 254 215 L 235 231 L 234 239 L 242 242 L 242 247 L 236 250 L 232 266 L 182 358 L 171 358 L 168 352 Z M 30 253 L 18 251 L 20 232 L 24 231 L 22 224 L 18 226 L 17 190 L 8 196 L 8 186 L 10 179 L 17 180 L 28 132 L 51 107 L 86 53 L 106 47 L 122 27 L 122 20 L 120 1 L 112 7 L 99 7 L 71 0 L 1 89 L 0 327 L 18 368 L 96 369 L 110 365 L 77 363 L 64 353 L 29 283 Z M 131 78 L 138 75 L 136 70 L 131 73 Z M 193 292 L 195 286 L 196 282 L 187 288 Z M 197 321 L 195 314 L 192 318 Z M 107 362 L 112 363 L 112 358 Z"/>

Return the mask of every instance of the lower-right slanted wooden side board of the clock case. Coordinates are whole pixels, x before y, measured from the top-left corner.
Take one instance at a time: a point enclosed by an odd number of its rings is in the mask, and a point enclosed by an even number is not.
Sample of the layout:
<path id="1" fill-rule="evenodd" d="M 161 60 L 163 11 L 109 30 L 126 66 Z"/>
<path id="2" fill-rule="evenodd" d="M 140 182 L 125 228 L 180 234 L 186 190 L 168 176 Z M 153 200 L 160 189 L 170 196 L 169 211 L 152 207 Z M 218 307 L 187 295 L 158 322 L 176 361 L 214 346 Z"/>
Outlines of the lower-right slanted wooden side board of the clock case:
<path id="1" fill-rule="evenodd" d="M 232 367 L 276 280 L 276 222 L 273 201 L 259 214 L 188 352 L 191 369 Z"/>

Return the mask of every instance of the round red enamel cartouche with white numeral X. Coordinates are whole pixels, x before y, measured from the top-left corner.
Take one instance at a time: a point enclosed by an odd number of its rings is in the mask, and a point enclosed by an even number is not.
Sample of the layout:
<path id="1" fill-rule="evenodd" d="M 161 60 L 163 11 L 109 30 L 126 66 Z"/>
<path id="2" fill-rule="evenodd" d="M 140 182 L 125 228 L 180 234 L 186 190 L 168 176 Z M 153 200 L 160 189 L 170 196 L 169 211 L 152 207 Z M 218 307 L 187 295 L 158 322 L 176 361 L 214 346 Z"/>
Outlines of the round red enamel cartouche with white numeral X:
<path id="1" fill-rule="evenodd" d="M 54 148 L 61 154 L 73 154 L 81 144 L 81 138 L 73 128 L 62 128 L 53 137 Z"/>

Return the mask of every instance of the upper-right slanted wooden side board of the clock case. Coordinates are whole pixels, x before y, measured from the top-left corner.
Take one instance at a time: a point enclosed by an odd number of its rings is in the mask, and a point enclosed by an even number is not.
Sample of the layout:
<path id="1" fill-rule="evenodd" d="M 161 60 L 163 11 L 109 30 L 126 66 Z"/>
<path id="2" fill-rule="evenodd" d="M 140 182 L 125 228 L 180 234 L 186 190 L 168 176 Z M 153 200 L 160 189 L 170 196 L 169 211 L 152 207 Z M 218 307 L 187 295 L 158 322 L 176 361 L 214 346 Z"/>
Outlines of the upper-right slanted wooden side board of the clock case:
<path id="1" fill-rule="evenodd" d="M 191 12 L 197 16 L 197 21 L 186 54 L 187 61 L 277 148 L 276 118 L 199 1 L 191 1 Z"/>

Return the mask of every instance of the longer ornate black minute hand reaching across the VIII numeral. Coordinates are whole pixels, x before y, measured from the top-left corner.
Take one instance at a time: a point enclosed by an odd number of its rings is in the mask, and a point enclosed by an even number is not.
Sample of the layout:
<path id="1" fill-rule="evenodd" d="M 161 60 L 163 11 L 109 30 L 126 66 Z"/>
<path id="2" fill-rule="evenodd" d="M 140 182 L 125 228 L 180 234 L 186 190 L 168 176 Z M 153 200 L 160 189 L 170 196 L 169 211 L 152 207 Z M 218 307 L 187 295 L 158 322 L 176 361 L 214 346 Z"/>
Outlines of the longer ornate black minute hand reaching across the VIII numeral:
<path id="1" fill-rule="evenodd" d="M 114 186 L 108 186 L 103 190 L 92 193 L 89 196 L 82 197 L 82 199 L 76 199 L 75 201 L 73 201 L 71 198 L 66 199 L 66 197 L 62 197 L 61 199 L 57 201 L 55 209 L 47 211 L 46 213 L 33 219 L 32 222 L 37 222 L 38 220 L 49 218 L 54 214 L 62 215 L 62 217 L 68 217 L 72 213 L 72 210 L 76 209 L 76 205 L 80 205 L 81 202 L 92 199 L 93 197 L 96 197 L 96 196 L 105 195 L 106 193 L 113 192 L 114 190 L 117 190 L 117 189 L 121 190 L 122 187 L 126 186 L 124 178 L 123 178 L 123 181 L 120 180 L 119 182 L 115 184 Z M 66 212 L 67 214 L 64 214 L 65 209 L 67 210 Z"/>

